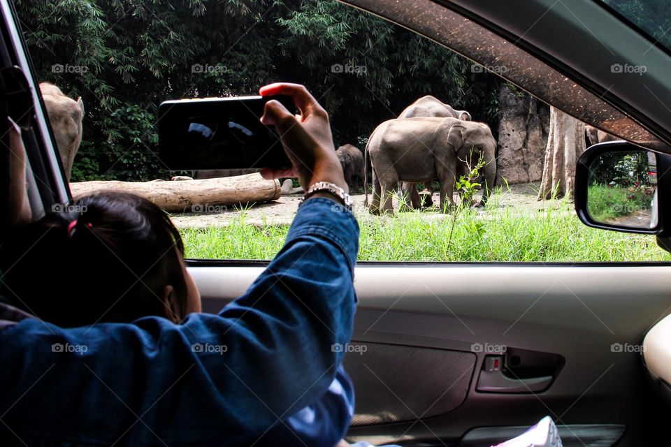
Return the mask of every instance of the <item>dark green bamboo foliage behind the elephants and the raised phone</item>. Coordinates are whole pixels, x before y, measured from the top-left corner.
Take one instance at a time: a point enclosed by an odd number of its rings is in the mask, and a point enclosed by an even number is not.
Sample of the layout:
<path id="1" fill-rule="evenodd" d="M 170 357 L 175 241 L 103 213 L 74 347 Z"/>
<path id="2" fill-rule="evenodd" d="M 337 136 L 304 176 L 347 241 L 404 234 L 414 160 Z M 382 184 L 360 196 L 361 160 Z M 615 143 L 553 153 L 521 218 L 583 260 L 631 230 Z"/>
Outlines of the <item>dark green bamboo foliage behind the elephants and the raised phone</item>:
<path id="1" fill-rule="evenodd" d="M 445 47 L 335 0 L 16 0 L 38 79 L 82 96 L 73 179 L 165 177 L 155 113 L 166 99 L 305 84 L 336 145 L 433 94 L 496 129 L 498 78 Z M 339 71 L 338 67 L 342 67 Z"/>

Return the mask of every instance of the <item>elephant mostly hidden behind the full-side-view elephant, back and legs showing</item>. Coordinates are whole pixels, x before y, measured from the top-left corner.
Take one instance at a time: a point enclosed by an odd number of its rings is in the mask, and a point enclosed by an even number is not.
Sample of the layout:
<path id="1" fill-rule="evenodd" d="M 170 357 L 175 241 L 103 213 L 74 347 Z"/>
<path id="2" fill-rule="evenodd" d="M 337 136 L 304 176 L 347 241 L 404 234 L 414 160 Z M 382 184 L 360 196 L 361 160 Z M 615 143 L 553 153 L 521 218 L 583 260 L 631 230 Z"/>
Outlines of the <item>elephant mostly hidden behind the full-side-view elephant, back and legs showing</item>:
<path id="1" fill-rule="evenodd" d="M 442 103 L 435 98 L 435 96 L 427 95 L 419 98 L 414 103 L 410 104 L 401 112 L 401 115 L 398 115 L 399 118 L 414 118 L 414 117 L 440 117 L 440 118 L 457 118 L 463 121 L 472 121 L 470 113 L 466 110 L 456 110 L 452 105 Z M 433 180 L 426 183 L 426 189 L 433 196 Z M 406 208 L 419 209 L 422 206 L 430 206 L 428 200 L 422 202 L 419 198 L 419 193 L 417 192 L 417 185 L 410 182 L 404 182 L 398 185 L 399 191 L 401 191 L 401 196 L 403 196 L 403 201 Z M 433 202 L 431 202 L 433 203 Z"/>

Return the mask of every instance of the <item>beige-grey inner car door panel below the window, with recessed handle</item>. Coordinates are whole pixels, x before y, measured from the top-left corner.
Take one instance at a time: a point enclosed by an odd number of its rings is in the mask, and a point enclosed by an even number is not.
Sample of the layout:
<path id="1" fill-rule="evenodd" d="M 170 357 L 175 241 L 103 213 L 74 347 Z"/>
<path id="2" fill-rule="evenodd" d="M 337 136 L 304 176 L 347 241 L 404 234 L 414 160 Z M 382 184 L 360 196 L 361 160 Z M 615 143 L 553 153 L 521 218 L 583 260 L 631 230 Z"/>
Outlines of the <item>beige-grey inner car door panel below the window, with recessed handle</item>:
<path id="1" fill-rule="evenodd" d="M 217 312 L 262 269 L 189 271 L 205 310 Z M 671 266 L 363 263 L 354 284 L 359 305 L 345 360 L 358 396 L 353 440 L 440 445 L 547 415 L 568 430 L 590 425 L 588 434 L 619 427 L 618 445 L 662 436 L 646 427 L 658 407 L 640 346 L 671 311 Z M 521 365 L 541 354 L 561 359 L 543 373 L 553 374 L 549 388 L 478 391 L 486 356 L 505 352 Z"/>

